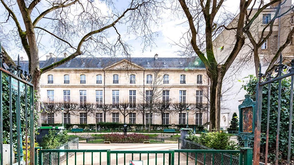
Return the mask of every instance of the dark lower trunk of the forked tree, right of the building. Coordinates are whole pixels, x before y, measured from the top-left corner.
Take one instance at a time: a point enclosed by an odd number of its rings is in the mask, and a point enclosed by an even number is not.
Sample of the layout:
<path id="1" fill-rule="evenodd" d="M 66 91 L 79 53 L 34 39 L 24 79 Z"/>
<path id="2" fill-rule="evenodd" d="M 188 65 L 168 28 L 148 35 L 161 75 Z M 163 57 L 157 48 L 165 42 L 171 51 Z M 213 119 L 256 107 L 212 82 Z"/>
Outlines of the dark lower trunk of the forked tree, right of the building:
<path id="1" fill-rule="evenodd" d="M 222 87 L 222 74 L 210 76 L 210 123 L 209 129 L 220 130 L 220 96 Z"/>

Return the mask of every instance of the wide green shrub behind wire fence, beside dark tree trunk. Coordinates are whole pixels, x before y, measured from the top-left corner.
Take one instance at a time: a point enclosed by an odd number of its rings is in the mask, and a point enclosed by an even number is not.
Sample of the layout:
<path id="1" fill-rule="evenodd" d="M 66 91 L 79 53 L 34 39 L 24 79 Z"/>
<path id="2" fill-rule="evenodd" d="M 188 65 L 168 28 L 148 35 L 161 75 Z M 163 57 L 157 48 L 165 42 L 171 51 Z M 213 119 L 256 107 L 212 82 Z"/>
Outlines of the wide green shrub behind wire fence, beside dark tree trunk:
<path id="1" fill-rule="evenodd" d="M 236 150 L 238 149 L 235 142 L 230 141 L 230 135 L 224 132 L 208 132 L 202 133 L 200 136 L 194 136 L 189 133 L 189 137 L 186 137 L 189 141 L 201 144 L 208 148 L 220 149 L 220 150 Z"/>

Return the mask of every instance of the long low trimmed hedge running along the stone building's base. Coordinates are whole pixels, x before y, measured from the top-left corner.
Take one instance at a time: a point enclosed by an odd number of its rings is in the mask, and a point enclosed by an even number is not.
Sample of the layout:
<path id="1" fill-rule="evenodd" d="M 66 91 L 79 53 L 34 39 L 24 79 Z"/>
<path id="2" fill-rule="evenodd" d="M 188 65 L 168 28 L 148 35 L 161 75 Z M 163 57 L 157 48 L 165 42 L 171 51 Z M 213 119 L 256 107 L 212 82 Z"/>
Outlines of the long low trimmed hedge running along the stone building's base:
<path id="1" fill-rule="evenodd" d="M 112 123 L 112 122 L 99 122 L 97 123 L 97 128 L 101 128 L 101 130 L 115 130 L 115 129 L 122 129 L 123 128 L 122 123 Z M 136 131 L 139 130 L 143 130 L 143 124 L 127 124 L 128 125 L 128 129 L 136 129 Z M 42 126 L 62 126 L 62 124 L 42 124 Z M 70 130 L 72 129 L 74 126 L 77 126 L 78 128 L 82 128 L 82 129 L 95 129 L 96 124 L 64 124 L 65 129 Z M 185 124 L 178 124 L 175 125 L 176 129 L 180 129 L 180 128 L 186 128 Z M 203 130 L 203 126 L 198 126 L 198 125 L 189 125 L 189 128 L 194 128 L 196 127 L 198 130 Z M 151 124 L 151 130 L 152 131 L 156 131 L 156 130 L 161 130 L 161 129 L 168 129 L 168 128 L 172 128 L 171 124 Z"/>

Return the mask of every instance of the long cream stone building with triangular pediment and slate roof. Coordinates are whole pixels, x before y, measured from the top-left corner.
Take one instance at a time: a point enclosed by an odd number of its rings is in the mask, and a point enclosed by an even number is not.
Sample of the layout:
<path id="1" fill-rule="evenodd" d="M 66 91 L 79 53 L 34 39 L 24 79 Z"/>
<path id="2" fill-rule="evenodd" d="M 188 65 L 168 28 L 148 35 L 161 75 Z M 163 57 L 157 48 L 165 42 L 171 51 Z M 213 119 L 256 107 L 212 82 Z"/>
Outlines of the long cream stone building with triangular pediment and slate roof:
<path id="1" fill-rule="evenodd" d="M 66 56 L 66 54 L 64 54 Z M 56 58 L 50 53 L 46 67 L 63 58 Z M 41 75 L 41 101 L 72 101 L 83 104 L 118 104 L 120 102 L 140 103 L 152 95 L 151 86 L 155 70 L 162 77 L 161 96 L 158 100 L 170 102 L 206 103 L 203 90 L 208 90 L 206 69 L 200 59 L 195 58 L 74 58 Z M 170 107 L 172 108 L 172 107 Z M 96 114 L 87 114 L 81 110 L 74 113 L 43 113 L 43 123 L 94 124 L 103 122 L 104 114 L 96 110 Z M 67 117 L 69 115 L 69 118 Z M 124 122 L 124 116 L 113 107 L 106 113 L 106 122 Z M 146 115 L 146 124 L 186 124 L 186 111 Z M 162 120 L 163 119 L 163 120 Z M 197 113 L 191 109 L 189 124 L 202 125 L 208 122 L 208 108 Z M 126 123 L 142 124 L 143 116 L 138 111 L 126 117 Z M 182 123 L 180 123 L 182 122 Z"/>

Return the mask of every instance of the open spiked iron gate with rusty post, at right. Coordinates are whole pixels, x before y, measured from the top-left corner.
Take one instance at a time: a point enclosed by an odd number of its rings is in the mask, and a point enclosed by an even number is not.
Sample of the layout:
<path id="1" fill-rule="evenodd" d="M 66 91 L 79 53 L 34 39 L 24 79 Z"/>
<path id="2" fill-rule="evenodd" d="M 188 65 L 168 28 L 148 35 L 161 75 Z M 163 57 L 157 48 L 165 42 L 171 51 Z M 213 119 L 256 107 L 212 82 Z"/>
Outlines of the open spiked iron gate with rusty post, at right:
<path id="1" fill-rule="evenodd" d="M 274 68 L 275 75 L 273 76 L 273 72 L 270 73 L 261 73 L 261 65 L 259 68 L 259 78 L 258 83 L 256 84 L 256 118 L 255 118 L 255 134 L 254 134 L 254 149 L 253 149 L 253 165 L 259 165 L 260 161 L 260 135 L 261 135 L 261 120 L 262 115 L 266 117 L 266 132 L 265 138 L 265 165 L 268 164 L 268 147 L 269 147 L 269 131 L 273 129 L 270 128 L 270 108 L 271 108 L 271 85 L 273 83 L 278 82 L 278 103 L 277 103 L 277 127 L 276 127 L 276 146 L 275 146 L 275 165 L 278 165 L 278 157 L 279 157 L 279 135 L 280 135 L 280 118 L 281 118 L 281 94 L 282 94 L 282 80 L 286 78 L 291 78 L 290 84 L 290 96 L 289 96 L 289 133 L 288 133 L 288 153 L 287 153 L 287 164 L 290 165 L 291 159 L 291 138 L 292 138 L 292 116 L 293 116 L 293 76 L 294 76 L 294 59 L 289 63 L 291 66 L 282 63 L 282 55 L 280 55 L 280 62 Z M 268 87 L 267 89 L 267 102 L 263 104 L 263 88 Z M 283 91 L 284 92 L 284 91 Z M 262 107 L 267 108 L 267 113 L 262 114 Z M 275 108 L 275 107 L 272 107 Z M 285 117 L 285 116 L 283 116 Z"/>

